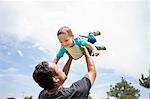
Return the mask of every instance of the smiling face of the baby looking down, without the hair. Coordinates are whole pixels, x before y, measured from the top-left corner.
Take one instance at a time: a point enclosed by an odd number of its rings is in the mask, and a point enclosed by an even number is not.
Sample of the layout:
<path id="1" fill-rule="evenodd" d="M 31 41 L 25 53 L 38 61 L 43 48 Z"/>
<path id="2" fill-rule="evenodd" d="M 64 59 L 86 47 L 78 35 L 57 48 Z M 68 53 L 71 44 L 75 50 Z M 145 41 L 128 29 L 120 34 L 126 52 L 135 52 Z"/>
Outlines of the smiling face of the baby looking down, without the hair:
<path id="1" fill-rule="evenodd" d="M 70 48 L 73 45 L 73 35 L 69 36 L 68 34 L 58 35 L 59 42 L 63 47 Z"/>

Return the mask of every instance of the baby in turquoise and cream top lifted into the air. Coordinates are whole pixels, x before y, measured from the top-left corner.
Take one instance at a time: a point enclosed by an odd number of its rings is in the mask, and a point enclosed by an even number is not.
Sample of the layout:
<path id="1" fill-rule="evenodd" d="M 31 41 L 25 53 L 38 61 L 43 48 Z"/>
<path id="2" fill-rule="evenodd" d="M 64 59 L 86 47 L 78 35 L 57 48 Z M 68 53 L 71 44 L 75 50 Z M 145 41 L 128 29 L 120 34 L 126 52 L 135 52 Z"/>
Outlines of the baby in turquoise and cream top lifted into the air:
<path id="1" fill-rule="evenodd" d="M 95 36 L 100 35 L 100 32 L 89 33 L 88 36 L 79 35 L 74 37 L 72 30 L 67 27 L 61 27 L 57 32 L 57 37 L 61 44 L 56 58 L 53 63 L 58 63 L 59 59 L 64 55 L 64 53 L 70 54 L 73 59 L 77 60 L 83 56 L 83 52 L 80 46 L 85 46 L 91 56 L 98 56 L 98 50 L 106 50 L 105 46 L 93 46 L 96 42 Z"/>

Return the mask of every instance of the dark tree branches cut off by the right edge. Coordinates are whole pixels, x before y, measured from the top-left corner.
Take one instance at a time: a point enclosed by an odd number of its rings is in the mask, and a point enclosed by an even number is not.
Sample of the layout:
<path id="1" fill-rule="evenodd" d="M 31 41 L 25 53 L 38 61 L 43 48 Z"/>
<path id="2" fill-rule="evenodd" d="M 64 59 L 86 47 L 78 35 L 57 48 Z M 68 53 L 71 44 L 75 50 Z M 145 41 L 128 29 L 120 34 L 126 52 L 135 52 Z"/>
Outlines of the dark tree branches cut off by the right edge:
<path id="1" fill-rule="evenodd" d="M 139 79 L 140 85 L 145 88 L 150 88 L 150 70 L 149 70 L 149 76 L 144 77 L 143 74 L 141 74 L 141 78 Z"/>

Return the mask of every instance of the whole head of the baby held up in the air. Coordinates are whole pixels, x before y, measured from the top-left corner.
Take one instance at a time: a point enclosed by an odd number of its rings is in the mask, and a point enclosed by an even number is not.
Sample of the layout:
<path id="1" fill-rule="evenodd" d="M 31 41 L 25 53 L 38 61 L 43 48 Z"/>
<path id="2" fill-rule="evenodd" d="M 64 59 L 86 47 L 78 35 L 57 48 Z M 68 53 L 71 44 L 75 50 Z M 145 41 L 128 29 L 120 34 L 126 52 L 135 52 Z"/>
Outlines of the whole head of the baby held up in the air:
<path id="1" fill-rule="evenodd" d="M 73 45 L 73 34 L 69 27 L 63 26 L 57 32 L 57 37 L 62 46 L 69 48 Z"/>

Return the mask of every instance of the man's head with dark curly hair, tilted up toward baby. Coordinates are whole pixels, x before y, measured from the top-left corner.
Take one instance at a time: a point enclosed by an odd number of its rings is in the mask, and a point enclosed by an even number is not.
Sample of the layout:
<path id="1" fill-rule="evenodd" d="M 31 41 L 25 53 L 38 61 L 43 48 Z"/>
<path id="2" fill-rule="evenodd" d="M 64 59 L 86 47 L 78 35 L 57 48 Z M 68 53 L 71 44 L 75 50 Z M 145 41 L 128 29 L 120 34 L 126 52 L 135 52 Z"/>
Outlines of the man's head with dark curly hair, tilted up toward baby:
<path id="1" fill-rule="evenodd" d="M 33 79 L 38 85 L 46 90 L 54 86 L 61 86 L 66 80 L 66 75 L 56 64 L 46 61 L 39 63 L 33 72 Z"/>

